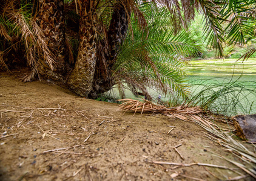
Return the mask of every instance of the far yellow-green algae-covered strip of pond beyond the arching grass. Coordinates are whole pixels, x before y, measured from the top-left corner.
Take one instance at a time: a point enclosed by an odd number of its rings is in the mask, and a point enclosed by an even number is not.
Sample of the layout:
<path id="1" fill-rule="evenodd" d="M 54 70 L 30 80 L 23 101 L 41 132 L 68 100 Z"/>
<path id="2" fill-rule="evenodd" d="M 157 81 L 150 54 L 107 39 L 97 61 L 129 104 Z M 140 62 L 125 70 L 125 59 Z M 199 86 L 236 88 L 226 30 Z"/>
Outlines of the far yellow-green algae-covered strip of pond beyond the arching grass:
<path id="1" fill-rule="evenodd" d="M 237 59 L 197 60 L 190 61 L 189 64 L 184 66 L 184 72 L 188 75 L 187 82 L 197 83 L 197 80 L 201 79 L 212 81 L 212 78 L 219 79 L 220 82 L 228 82 L 232 79 L 233 81 L 237 80 L 238 83 L 245 83 L 246 86 L 256 87 L 253 82 L 256 81 L 256 59 L 244 62 L 237 61 Z M 205 83 L 209 83 L 209 81 Z"/>

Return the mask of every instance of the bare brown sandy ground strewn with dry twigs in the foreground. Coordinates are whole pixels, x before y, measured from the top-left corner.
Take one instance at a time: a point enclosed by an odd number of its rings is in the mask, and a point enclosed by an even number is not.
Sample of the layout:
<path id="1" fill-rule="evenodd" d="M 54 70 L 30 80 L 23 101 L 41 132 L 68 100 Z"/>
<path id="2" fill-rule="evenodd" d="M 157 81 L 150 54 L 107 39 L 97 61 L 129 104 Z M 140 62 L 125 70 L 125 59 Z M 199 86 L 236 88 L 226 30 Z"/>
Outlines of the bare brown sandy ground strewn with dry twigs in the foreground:
<path id="1" fill-rule="evenodd" d="M 238 176 L 221 168 L 152 163 L 199 162 L 235 168 L 211 151 L 240 159 L 206 138 L 207 132 L 194 122 L 163 115 L 133 116 L 118 110 L 118 104 L 77 97 L 47 81 L 22 83 L 5 73 L 0 74 L 0 87 L 0 180 L 225 180 Z M 175 127 L 169 134 L 168 125 Z M 177 150 L 184 159 L 173 149 L 179 144 Z M 58 148 L 66 149 L 44 153 Z"/>

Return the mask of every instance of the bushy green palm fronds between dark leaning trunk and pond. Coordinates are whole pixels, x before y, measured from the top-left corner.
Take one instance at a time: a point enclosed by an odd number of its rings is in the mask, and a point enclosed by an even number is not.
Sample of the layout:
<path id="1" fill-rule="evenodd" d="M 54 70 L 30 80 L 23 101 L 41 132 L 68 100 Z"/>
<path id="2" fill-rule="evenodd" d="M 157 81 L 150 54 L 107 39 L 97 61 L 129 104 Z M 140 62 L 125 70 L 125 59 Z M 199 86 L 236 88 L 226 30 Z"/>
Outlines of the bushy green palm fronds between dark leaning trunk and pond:
<path id="1" fill-rule="evenodd" d="M 141 91 L 147 98 L 151 98 L 148 88 L 157 89 L 163 95 L 178 92 L 186 96 L 186 85 L 183 84 L 186 74 L 181 68 L 185 57 L 198 56 L 200 49 L 186 31 L 174 34 L 166 8 L 143 4 L 141 11 L 149 28 L 140 30 L 138 22 L 131 22 L 132 29 L 115 64 L 121 97 L 124 97 L 124 83 L 133 94 Z"/>

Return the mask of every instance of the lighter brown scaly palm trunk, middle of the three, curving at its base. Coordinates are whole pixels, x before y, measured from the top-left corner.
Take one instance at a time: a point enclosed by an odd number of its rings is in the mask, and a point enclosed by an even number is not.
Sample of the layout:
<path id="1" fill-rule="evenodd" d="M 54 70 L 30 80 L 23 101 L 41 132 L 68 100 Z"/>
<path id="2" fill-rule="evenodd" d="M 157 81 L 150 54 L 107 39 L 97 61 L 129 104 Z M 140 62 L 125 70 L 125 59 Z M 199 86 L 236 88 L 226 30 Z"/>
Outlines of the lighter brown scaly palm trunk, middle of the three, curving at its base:
<path id="1" fill-rule="evenodd" d="M 96 64 L 96 15 L 93 14 L 95 1 L 86 1 L 82 5 L 79 27 L 79 50 L 75 68 L 67 84 L 76 94 L 88 97 L 92 90 Z"/>

